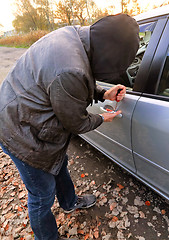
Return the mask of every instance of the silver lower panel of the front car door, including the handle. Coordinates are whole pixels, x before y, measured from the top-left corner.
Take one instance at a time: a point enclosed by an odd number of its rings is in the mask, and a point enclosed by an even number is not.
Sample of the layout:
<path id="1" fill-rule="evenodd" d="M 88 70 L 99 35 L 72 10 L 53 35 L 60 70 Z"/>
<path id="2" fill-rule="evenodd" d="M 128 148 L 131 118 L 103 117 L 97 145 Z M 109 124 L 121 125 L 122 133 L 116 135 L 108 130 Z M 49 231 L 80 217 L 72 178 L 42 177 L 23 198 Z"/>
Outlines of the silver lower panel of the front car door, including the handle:
<path id="1" fill-rule="evenodd" d="M 116 117 L 112 122 L 103 123 L 94 131 L 85 134 L 85 138 L 97 143 L 106 154 L 133 172 L 136 172 L 136 168 L 131 147 L 131 118 L 138 99 L 139 96 L 126 94 L 125 99 L 117 105 L 123 112 L 122 118 Z M 101 114 L 102 107 L 115 105 L 116 101 L 106 100 L 88 107 L 88 111 L 92 108 L 92 113 Z"/>

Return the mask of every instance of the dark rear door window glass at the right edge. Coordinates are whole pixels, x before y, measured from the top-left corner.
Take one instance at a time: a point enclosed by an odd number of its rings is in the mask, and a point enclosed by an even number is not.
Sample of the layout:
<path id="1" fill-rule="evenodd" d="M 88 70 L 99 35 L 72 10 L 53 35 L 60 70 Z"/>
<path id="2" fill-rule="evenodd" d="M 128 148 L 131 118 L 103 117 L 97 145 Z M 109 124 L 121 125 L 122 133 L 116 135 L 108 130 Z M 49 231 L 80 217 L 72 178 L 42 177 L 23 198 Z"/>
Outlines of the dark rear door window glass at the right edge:
<path id="1" fill-rule="evenodd" d="M 161 96 L 169 97 L 169 50 L 166 55 L 164 68 L 160 78 L 160 84 L 158 86 L 157 94 Z"/>

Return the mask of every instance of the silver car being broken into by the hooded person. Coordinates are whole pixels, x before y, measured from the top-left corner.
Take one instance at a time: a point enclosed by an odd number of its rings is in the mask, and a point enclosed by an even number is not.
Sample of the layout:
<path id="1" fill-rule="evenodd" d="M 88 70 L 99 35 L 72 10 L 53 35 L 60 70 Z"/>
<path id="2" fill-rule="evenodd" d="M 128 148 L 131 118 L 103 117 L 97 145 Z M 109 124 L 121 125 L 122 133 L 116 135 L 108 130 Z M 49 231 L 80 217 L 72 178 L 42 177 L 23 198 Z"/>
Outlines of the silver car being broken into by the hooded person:
<path id="1" fill-rule="evenodd" d="M 82 137 L 169 201 L 169 6 L 135 19 L 140 48 L 127 69 L 126 96 L 117 106 L 122 115 Z M 115 105 L 106 100 L 88 111 L 102 113 Z"/>

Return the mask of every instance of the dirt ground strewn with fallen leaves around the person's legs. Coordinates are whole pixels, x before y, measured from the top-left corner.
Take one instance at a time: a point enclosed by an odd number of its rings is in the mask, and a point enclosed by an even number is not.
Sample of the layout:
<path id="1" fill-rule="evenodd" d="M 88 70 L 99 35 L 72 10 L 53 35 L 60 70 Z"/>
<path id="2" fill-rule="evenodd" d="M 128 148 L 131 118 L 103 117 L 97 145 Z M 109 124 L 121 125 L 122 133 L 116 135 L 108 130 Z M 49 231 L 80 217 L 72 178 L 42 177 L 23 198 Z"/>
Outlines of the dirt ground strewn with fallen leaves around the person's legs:
<path id="1" fill-rule="evenodd" d="M 0 48 L 0 72 L 8 65 L 7 58 L 10 65 L 22 51 L 25 49 Z M 9 66 L 6 73 L 7 69 Z M 68 155 L 77 194 L 93 193 L 97 203 L 88 210 L 65 214 L 56 199 L 52 210 L 62 236 L 80 240 L 169 239 L 169 205 L 163 198 L 79 136 L 72 138 Z M 0 183 L 0 239 L 33 239 L 25 186 L 11 159 L 1 150 Z"/>

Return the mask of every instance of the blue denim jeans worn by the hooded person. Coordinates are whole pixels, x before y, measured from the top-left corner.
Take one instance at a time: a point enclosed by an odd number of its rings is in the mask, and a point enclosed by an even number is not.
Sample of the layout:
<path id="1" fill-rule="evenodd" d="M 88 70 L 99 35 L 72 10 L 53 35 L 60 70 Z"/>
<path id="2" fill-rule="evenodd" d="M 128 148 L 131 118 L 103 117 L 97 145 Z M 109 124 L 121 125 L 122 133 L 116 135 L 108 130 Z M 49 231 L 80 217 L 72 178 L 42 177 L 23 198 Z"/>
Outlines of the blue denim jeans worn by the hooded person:
<path id="1" fill-rule="evenodd" d="M 60 207 L 65 210 L 72 208 L 77 200 L 74 185 L 67 169 L 68 157 L 65 157 L 59 174 L 54 176 L 24 163 L 4 146 L 1 145 L 1 148 L 15 163 L 28 190 L 28 213 L 35 240 L 58 239 L 55 217 L 51 212 L 55 195 Z"/>

